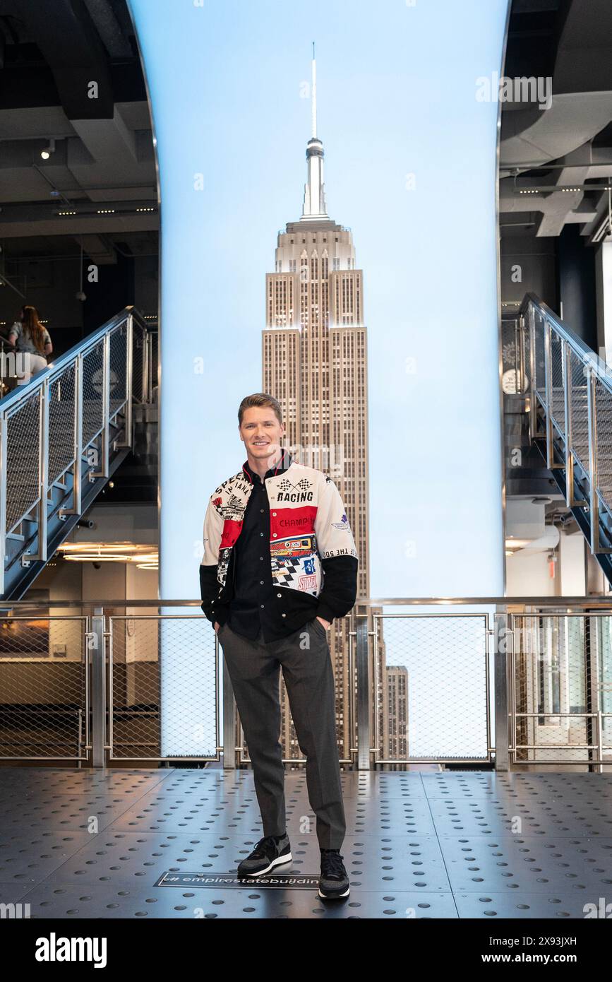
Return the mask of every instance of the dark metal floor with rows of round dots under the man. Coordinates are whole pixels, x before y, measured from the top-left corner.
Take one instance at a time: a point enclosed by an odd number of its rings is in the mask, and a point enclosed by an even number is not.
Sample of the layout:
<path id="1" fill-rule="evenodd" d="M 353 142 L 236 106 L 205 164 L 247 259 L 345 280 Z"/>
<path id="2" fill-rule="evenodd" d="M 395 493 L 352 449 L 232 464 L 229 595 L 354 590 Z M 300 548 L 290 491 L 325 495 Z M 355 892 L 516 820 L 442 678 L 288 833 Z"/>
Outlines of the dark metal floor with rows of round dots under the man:
<path id="1" fill-rule="evenodd" d="M 285 776 L 292 863 L 242 886 L 263 835 L 250 771 L 0 767 L 0 902 L 58 919 L 566 920 L 610 896 L 612 775 L 362 772 L 342 787 L 351 892 L 331 901 L 301 772 Z"/>

